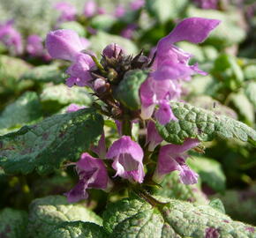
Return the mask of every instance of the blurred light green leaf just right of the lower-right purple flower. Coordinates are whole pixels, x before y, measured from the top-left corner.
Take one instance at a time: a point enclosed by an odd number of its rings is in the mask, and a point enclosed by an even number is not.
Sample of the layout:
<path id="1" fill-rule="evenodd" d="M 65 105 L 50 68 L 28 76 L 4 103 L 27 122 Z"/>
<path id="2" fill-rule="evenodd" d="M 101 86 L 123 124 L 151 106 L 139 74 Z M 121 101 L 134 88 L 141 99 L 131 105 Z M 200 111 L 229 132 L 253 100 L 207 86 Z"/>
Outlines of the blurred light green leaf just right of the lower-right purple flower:
<path id="1" fill-rule="evenodd" d="M 188 160 L 188 165 L 200 175 L 201 181 L 206 182 L 213 190 L 225 191 L 226 177 L 219 162 L 207 157 L 192 155 L 192 160 Z"/>

